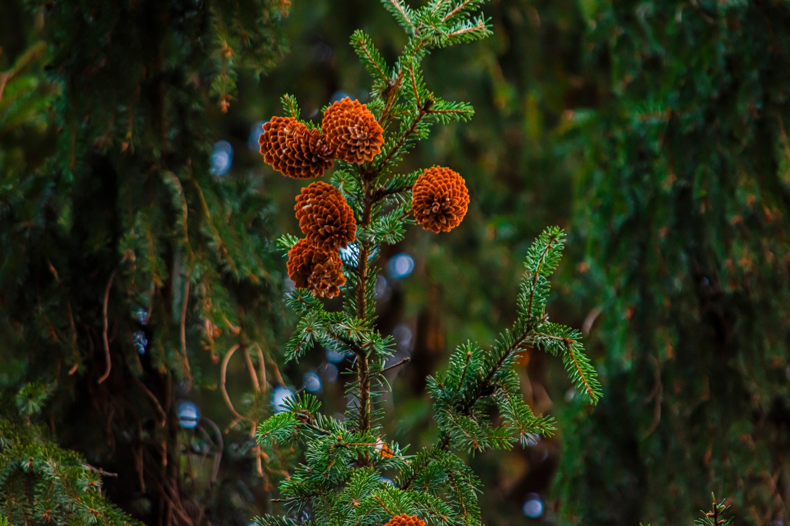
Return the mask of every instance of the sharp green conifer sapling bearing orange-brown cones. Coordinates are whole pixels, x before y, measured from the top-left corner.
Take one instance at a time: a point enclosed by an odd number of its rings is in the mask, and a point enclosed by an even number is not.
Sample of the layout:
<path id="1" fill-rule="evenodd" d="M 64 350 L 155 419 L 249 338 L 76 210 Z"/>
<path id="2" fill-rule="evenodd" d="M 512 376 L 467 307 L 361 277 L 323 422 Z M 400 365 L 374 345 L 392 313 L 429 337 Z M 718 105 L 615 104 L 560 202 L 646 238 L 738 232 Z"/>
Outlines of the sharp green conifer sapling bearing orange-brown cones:
<path id="1" fill-rule="evenodd" d="M 285 95 L 287 117 L 264 125 L 259 141 L 265 162 L 290 177 L 321 177 L 338 161 L 330 185 L 313 183 L 297 197 L 295 211 L 306 237 L 285 235 L 279 241 L 297 286 L 288 303 L 301 316 L 286 356 L 298 360 L 316 345 L 355 355 L 344 421 L 323 415 L 315 397 L 299 394 L 288 400 L 286 411 L 258 427 L 261 446 L 293 440 L 304 455 L 303 464 L 280 483 L 279 502 L 298 519 L 266 515 L 256 519 L 261 526 L 481 524 L 479 481 L 458 453 L 523 445 L 531 435 L 551 435 L 554 429 L 550 417 L 536 416 L 521 397 L 514 369 L 518 353 L 537 347 L 562 356 L 581 396 L 592 404 L 600 397 L 580 333 L 551 323 L 546 313 L 548 279 L 564 242 L 562 230 L 549 228 L 529 249 L 513 326 L 489 349 L 461 345 L 447 370 L 428 379 L 438 443 L 406 455 L 404 447 L 382 436 L 378 401 L 388 387 L 383 373 L 393 338 L 375 325 L 378 248 L 401 241 L 407 225 L 419 223 L 436 233 L 452 229 L 469 202 L 463 177 L 449 168 L 396 171 L 431 125 L 467 121 L 473 114 L 467 103 L 429 91 L 420 65 L 431 49 L 491 32 L 475 13 L 482 0 L 432 0 L 419 9 L 401 0 L 382 3 L 406 30 L 408 43 L 389 66 L 368 35 L 352 35 L 373 76 L 371 101 L 334 103 L 318 128 L 299 121 L 295 99 Z M 340 248 L 345 250 L 339 254 Z M 338 294 L 344 299 L 341 311 L 329 311 L 319 300 Z M 501 415 L 498 425 L 489 418 L 492 407 Z M 384 473 L 397 473 L 396 483 L 383 483 Z"/>

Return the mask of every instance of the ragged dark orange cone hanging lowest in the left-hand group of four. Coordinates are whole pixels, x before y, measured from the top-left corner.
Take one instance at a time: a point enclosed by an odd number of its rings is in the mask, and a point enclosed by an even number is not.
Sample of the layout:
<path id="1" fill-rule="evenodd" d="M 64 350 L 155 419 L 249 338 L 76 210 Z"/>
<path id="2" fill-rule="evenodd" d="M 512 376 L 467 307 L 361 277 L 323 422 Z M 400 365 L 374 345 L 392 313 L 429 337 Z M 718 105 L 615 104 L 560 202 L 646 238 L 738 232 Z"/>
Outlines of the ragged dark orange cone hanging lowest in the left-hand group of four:
<path id="1" fill-rule="evenodd" d="M 340 256 L 307 239 L 300 239 L 288 251 L 288 277 L 297 288 L 307 289 L 318 297 L 336 297 L 340 285 L 345 283 Z"/>

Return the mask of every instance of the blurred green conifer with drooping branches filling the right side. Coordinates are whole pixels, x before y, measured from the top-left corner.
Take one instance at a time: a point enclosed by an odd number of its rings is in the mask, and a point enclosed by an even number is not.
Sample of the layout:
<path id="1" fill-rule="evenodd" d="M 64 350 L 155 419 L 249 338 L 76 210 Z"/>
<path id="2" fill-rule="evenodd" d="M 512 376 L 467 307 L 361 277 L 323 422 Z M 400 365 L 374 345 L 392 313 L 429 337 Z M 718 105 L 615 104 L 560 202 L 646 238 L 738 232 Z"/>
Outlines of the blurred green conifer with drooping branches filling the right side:
<path id="1" fill-rule="evenodd" d="M 567 523 L 690 522 L 709 489 L 786 524 L 790 7 L 585 6 L 574 224 L 608 396 L 563 437 Z"/>

